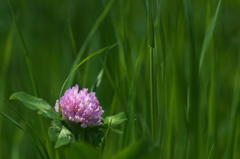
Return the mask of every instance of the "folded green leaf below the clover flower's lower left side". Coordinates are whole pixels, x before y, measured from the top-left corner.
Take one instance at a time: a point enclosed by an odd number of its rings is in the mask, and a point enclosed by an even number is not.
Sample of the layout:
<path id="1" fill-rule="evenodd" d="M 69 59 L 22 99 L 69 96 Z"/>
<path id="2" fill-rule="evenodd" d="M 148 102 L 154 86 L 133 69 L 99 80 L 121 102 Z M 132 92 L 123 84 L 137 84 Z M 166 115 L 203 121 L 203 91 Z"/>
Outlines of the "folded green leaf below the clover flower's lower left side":
<path id="1" fill-rule="evenodd" d="M 73 139 L 73 134 L 59 120 L 53 120 L 48 129 L 48 135 L 54 148 L 59 148 L 69 144 Z"/>

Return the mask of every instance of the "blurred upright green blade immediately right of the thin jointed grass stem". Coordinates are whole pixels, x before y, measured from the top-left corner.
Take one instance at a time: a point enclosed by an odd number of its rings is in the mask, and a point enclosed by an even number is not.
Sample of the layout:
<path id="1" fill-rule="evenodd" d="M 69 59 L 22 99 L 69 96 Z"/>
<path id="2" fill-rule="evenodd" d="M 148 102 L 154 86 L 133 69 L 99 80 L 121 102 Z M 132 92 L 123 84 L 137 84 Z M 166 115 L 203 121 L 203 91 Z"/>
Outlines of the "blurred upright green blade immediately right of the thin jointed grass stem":
<path id="1" fill-rule="evenodd" d="M 166 130 L 166 40 L 165 40 L 165 33 L 163 27 L 163 15 L 162 15 L 162 7 L 163 1 L 157 0 L 157 27 L 156 29 L 156 54 L 157 54 L 157 69 L 159 69 L 156 73 L 157 74 L 157 81 L 158 81 L 158 94 L 157 94 L 157 105 L 158 105 L 158 120 L 157 123 L 160 124 L 158 128 L 158 137 L 157 141 L 159 145 L 161 145 L 160 154 L 162 154 L 163 144 L 164 144 L 164 137 L 165 137 L 165 130 Z M 165 91 L 165 93 L 164 93 Z"/>

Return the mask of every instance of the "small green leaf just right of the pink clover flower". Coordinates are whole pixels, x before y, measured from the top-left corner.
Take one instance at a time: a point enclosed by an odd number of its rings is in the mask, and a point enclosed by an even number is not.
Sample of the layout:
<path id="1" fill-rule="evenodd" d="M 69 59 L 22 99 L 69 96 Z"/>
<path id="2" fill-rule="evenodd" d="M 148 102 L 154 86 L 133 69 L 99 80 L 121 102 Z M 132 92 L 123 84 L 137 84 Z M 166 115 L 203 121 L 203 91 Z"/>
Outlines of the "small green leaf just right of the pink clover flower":
<path id="1" fill-rule="evenodd" d="M 105 119 L 103 119 L 104 124 L 109 124 L 111 122 L 111 125 L 120 124 L 125 120 L 127 120 L 127 118 L 124 112 L 118 113 L 117 115 L 113 116 L 107 116 Z"/>

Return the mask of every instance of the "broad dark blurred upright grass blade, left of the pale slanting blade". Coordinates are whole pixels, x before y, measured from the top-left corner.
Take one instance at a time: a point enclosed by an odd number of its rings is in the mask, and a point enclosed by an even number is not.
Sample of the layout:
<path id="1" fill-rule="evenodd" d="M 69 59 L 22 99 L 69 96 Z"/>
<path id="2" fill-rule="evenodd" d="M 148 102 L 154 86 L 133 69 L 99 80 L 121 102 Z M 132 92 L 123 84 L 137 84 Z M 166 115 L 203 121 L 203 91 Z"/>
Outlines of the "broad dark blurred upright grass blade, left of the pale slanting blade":
<path id="1" fill-rule="evenodd" d="M 196 53 L 196 44 L 195 44 L 195 34 L 194 34 L 194 26 L 193 26 L 193 14 L 191 10 L 191 1 L 183 0 L 183 9 L 184 16 L 186 21 L 186 29 L 189 34 L 189 66 L 187 67 L 189 70 L 186 70 L 189 74 L 189 113 L 188 113 L 188 121 L 187 121 L 187 156 L 189 158 L 200 158 L 199 151 L 201 146 L 200 138 L 200 130 L 199 130 L 199 79 L 196 70 L 198 70 L 198 57 Z M 198 144 L 196 144 L 198 143 Z"/>

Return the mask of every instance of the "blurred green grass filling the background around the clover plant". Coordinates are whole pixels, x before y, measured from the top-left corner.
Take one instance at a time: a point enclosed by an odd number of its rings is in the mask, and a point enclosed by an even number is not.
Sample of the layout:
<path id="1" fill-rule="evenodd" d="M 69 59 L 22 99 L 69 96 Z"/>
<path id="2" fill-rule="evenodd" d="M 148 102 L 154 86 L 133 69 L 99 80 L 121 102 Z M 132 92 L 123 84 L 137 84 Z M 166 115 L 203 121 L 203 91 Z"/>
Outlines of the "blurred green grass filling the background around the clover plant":
<path id="1" fill-rule="evenodd" d="M 0 111 L 16 120 L 47 158 L 240 158 L 240 1 L 0 1 Z M 14 20 L 15 19 L 15 20 Z M 127 122 L 103 152 L 84 143 L 54 149 L 50 120 L 20 102 L 23 91 L 52 106 L 67 87 L 91 88 L 103 116 Z M 34 130 L 34 131 L 32 131 Z M 40 158 L 29 136 L 0 117 L 0 158 Z"/>

